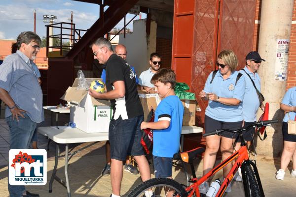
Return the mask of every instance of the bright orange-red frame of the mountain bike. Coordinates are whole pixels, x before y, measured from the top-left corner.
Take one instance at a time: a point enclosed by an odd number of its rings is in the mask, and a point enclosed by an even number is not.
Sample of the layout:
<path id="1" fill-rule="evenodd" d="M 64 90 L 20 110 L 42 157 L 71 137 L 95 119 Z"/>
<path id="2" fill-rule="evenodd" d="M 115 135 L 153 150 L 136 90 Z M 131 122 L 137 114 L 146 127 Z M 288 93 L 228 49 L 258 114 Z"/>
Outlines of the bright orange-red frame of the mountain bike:
<path id="1" fill-rule="evenodd" d="M 224 192 L 225 192 L 225 190 L 226 190 L 226 188 L 227 188 L 227 186 L 230 184 L 230 182 L 233 179 L 235 173 L 237 172 L 238 168 L 242 166 L 242 163 L 244 161 L 249 161 L 249 155 L 248 155 L 248 151 L 247 151 L 247 146 L 246 145 L 241 146 L 241 148 L 238 151 L 236 151 L 235 153 L 233 153 L 231 156 L 229 156 L 227 159 L 225 159 L 218 166 L 214 167 L 211 171 L 209 171 L 207 174 L 205 174 L 200 179 L 191 178 L 190 182 L 194 182 L 194 183 L 192 185 L 190 185 L 190 186 L 188 186 L 188 187 L 185 188 L 186 192 L 189 192 L 190 191 L 189 194 L 188 194 L 188 197 L 193 196 L 193 193 L 194 192 L 195 192 L 195 196 L 196 197 L 200 197 L 198 186 L 201 183 L 203 183 L 205 180 L 207 180 L 208 178 L 210 178 L 212 175 L 216 174 L 220 169 L 222 169 L 223 167 L 225 167 L 227 164 L 229 164 L 230 162 L 234 161 L 236 158 L 237 158 L 237 160 L 235 161 L 233 167 L 231 168 L 231 170 L 227 174 L 226 178 L 222 182 L 222 185 L 221 185 L 221 187 L 220 187 L 220 189 L 219 189 L 219 191 L 218 191 L 218 193 L 216 195 L 216 197 L 222 197 L 223 194 L 224 194 Z M 256 168 L 256 170 L 257 170 L 257 168 Z M 243 170 L 242 170 L 242 173 L 243 173 Z M 245 177 L 245 176 L 243 176 L 243 177 Z"/>

